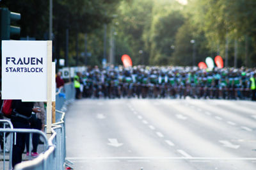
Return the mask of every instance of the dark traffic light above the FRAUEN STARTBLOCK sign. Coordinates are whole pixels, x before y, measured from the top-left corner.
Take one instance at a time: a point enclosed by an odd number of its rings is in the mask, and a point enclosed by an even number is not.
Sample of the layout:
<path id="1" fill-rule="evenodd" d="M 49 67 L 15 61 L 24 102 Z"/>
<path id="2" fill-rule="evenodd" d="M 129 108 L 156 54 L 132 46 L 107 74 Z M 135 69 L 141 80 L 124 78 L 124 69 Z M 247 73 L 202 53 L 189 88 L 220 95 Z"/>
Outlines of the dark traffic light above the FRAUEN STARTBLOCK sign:
<path id="1" fill-rule="evenodd" d="M 1 40 L 10 40 L 13 35 L 20 34 L 20 27 L 11 26 L 11 22 L 20 20 L 20 13 L 10 12 L 8 8 L 0 8 Z"/>

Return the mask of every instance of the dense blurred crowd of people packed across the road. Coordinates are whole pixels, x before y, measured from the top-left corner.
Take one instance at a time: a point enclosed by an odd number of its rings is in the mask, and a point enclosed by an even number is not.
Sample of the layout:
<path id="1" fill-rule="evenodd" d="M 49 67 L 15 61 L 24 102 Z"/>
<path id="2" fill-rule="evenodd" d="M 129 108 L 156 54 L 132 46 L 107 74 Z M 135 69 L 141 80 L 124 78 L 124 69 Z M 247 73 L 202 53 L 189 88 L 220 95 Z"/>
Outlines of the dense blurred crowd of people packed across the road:
<path id="1" fill-rule="evenodd" d="M 77 98 L 223 98 L 255 100 L 255 68 L 134 66 L 77 73 Z M 254 82 L 253 82 L 254 79 Z M 254 88 L 254 89 L 253 89 Z M 254 96 L 253 96 L 254 95 Z"/>

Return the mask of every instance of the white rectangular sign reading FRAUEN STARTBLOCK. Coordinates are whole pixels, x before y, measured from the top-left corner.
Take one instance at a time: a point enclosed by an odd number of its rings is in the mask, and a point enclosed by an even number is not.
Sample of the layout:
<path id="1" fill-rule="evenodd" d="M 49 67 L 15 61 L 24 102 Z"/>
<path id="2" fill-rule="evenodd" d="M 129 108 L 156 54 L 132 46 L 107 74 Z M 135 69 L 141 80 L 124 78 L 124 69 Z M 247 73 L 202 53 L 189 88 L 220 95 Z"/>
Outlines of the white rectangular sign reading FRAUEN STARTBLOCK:
<path id="1" fill-rule="evenodd" d="M 47 101 L 47 41 L 2 41 L 2 99 Z"/>

